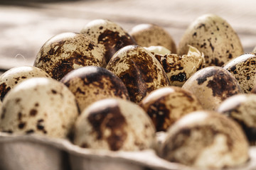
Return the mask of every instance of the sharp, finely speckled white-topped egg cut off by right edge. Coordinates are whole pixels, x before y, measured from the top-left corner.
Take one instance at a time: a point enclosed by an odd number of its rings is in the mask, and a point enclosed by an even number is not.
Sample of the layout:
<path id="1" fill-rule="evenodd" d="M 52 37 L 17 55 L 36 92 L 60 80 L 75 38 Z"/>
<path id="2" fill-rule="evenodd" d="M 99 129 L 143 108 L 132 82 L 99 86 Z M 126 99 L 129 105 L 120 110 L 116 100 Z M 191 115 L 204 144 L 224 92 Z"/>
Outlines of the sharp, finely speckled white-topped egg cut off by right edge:
<path id="1" fill-rule="evenodd" d="M 243 92 L 249 93 L 256 84 L 256 54 L 248 53 L 230 60 L 223 66 L 238 80 Z"/>

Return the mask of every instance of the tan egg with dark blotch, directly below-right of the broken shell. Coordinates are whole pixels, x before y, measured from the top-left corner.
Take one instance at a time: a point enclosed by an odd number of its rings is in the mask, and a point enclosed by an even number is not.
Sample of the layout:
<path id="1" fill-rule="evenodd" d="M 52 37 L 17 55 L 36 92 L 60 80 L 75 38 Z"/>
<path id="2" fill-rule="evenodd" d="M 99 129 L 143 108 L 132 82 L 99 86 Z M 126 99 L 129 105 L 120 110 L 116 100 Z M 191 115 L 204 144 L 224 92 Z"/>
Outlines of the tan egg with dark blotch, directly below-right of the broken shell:
<path id="1" fill-rule="evenodd" d="M 226 98 L 242 92 L 238 81 L 223 67 L 210 66 L 193 74 L 182 86 L 198 98 L 203 108 L 215 111 Z"/>

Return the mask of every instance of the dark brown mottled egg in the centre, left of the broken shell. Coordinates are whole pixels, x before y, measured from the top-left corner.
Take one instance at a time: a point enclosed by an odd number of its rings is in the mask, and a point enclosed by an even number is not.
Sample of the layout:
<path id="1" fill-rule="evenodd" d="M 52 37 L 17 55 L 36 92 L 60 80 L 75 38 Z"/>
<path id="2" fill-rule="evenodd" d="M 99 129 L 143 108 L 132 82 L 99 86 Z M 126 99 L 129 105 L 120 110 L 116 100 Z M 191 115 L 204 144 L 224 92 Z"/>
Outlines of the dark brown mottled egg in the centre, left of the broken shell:
<path id="1" fill-rule="evenodd" d="M 139 45 L 128 45 L 114 54 L 106 67 L 127 86 L 131 101 L 139 103 L 155 89 L 169 86 L 169 79 L 158 60 Z"/>

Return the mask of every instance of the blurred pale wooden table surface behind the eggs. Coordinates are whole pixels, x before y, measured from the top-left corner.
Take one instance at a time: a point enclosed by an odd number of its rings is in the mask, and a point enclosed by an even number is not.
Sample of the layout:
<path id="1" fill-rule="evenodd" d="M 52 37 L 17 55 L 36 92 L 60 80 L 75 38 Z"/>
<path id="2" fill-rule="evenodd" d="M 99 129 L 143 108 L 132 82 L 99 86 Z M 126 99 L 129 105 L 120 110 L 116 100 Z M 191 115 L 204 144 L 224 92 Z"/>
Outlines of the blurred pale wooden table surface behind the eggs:
<path id="1" fill-rule="evenodd" d="M 252 0 L 38 0 L 0 1 L 0 70 L 32 65 L 46 40 L 80 32 L 89 21 L 109 19 L 129 31 L 139 23 L 166 28 L 176 45 L 188 25 L 205 13 L 224 18 L 238 33 L 245 52 L 256 46 L 256 1 Z"/>

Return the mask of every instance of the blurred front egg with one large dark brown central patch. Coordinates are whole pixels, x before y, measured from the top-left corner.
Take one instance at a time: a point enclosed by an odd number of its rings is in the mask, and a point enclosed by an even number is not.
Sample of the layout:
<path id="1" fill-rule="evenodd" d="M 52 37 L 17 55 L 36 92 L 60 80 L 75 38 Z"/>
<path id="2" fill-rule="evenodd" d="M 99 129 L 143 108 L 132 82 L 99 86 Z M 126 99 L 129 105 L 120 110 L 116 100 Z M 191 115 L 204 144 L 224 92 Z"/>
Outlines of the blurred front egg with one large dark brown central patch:
<path id="1" fill-rule="evenodd" d="M 137 151 L 154 145 L 155 129 L 144 110 L 124 99 L 107 98 L 86 108 L 75 123 L 80 147 Z"/>

